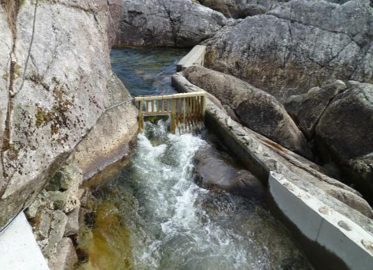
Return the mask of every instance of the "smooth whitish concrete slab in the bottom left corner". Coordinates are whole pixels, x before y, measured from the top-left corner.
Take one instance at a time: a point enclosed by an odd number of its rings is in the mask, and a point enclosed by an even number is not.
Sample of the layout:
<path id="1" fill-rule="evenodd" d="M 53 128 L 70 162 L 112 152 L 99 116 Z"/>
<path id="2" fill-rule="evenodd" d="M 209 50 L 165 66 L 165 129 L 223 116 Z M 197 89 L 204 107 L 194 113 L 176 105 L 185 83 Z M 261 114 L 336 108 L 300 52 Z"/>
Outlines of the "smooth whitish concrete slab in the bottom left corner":
<path id="1" fill-rule="evenodd" d="M 49 270 L 23 212 L 1 233 L 0 254 L 1 269 Z"/>

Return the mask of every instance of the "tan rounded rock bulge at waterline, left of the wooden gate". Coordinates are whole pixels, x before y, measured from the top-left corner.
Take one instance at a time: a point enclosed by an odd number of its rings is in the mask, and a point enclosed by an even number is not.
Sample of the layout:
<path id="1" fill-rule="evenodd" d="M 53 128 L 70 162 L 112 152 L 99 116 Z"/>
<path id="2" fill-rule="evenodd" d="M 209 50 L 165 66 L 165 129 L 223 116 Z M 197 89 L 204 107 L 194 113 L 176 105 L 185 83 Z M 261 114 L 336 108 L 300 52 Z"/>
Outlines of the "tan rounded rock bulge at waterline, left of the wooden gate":
<path id="1" fill-rule="evenodd" d="M 107 107 L 132 98 L 125 85 L 114 74 L 111 75 L 108 89 Z M 128 155 L 129 144 L 137 135 L 137 121 L 138 111 L 132 102 L 104 112 L 69 159 L 83 171 L 84 179 Z"/>

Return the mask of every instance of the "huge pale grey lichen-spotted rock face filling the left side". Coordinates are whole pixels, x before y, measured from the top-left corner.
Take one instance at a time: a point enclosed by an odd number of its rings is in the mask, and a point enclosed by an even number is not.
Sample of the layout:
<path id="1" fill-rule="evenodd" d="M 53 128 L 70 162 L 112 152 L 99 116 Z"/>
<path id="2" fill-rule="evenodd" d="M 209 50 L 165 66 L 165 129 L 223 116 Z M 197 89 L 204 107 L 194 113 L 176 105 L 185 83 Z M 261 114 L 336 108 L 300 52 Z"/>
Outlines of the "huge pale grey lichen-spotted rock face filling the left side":
<path id="1" fill-rule="evenodd" d="M 37 8 L 23 1 L 13 48 L 0 8 L 0 226 L 38 194 L 104 112 L 109 12 L 104 0 L 38 1 Z"/>

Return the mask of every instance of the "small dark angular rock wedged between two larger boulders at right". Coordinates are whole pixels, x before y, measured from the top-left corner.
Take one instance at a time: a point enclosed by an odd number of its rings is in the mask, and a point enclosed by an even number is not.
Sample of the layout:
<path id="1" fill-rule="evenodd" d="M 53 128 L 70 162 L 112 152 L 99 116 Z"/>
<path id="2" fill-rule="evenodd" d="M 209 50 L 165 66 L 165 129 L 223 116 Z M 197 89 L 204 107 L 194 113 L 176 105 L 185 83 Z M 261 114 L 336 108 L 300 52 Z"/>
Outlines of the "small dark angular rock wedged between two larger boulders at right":
<path id="1" fill-rule="evenodd" d="M 346 88 L 342 81 L 335 81 L 323 87 L 313 87 L 305 94 L 290 96 L 285 101 L 284 105 L 287 112 L 298 124 L 308 140 L 314 138 L 315 127 L 326 107 L 336 95 L 346 90 Z"/>

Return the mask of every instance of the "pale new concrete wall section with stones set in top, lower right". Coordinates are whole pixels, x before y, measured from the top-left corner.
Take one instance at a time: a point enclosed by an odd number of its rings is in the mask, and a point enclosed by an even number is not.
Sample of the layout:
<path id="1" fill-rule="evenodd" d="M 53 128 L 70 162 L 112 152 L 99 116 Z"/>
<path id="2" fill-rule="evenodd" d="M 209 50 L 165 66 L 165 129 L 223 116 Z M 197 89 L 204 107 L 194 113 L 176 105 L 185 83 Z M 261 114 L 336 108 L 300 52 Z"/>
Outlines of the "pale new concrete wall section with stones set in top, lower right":
<path id="1" fill-rule="evenodd" d="M 308 192 L 271 171 L 269 193 L 305 237 L 335 254 L 351 269 L 373 266 L 373 235 Z"/>

